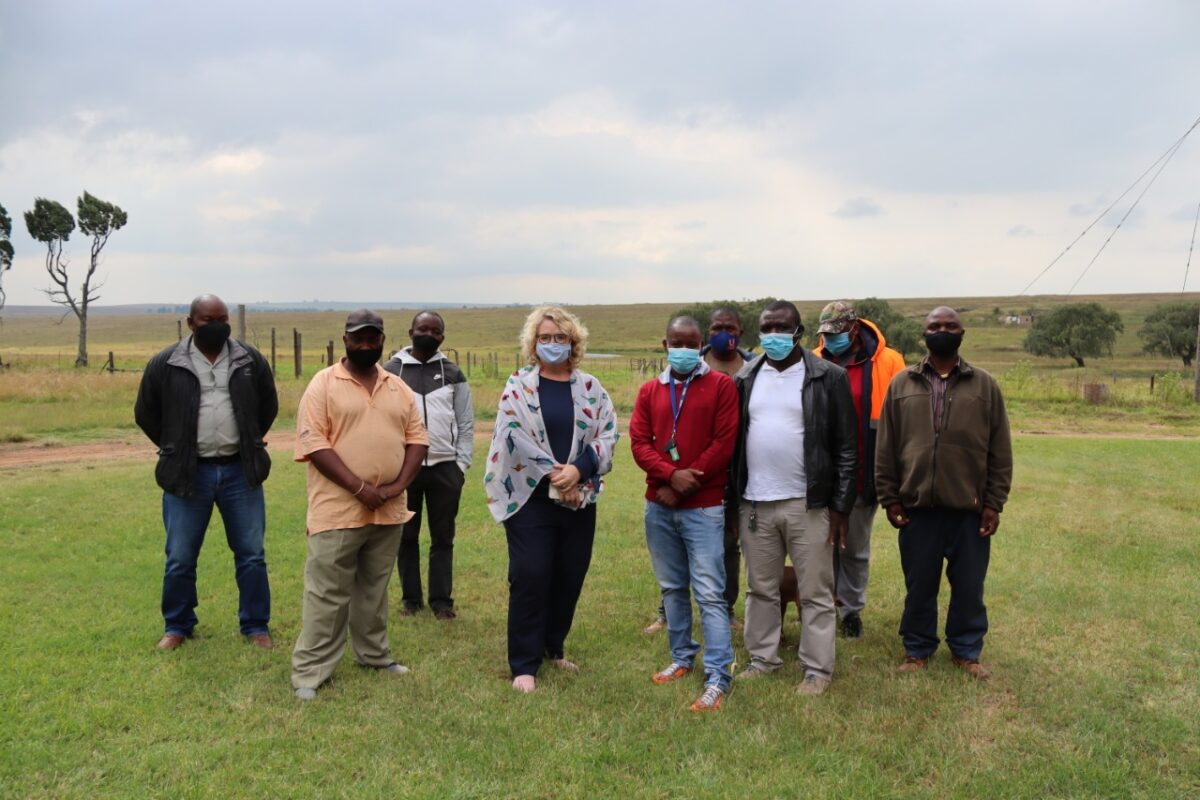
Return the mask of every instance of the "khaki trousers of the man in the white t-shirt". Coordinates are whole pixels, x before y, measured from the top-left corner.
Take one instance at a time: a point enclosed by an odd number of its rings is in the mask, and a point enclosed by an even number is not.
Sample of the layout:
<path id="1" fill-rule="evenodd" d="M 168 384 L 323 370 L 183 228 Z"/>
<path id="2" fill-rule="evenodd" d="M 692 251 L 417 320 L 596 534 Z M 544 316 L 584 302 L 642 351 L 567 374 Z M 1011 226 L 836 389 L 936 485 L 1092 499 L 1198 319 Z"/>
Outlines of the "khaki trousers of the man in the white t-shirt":
<path id="1" fill-rule="evenodd" d="M 767 670 L 784 663 L 779 657 L 779 582 L 784 559 L 791 557 L 800 593 L 800 667 L 805 674 L 832 678 L 838 613 L 833 604 L 828 510 L 809 509 L 803 498 L 743 500 L 738 523 L 746 563 L 745 645 L 750 663 Z"/>

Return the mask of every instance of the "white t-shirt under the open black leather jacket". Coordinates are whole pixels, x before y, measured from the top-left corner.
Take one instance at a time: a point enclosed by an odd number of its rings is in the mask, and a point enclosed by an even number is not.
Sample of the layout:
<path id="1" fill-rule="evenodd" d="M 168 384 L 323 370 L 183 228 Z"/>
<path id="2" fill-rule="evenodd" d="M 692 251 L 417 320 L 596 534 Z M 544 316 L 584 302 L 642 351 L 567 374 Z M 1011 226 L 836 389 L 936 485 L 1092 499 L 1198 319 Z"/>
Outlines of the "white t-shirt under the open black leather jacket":
<path id="1" fill-rule="evenodd" d="M 790 500 L 808 493 L 804 475 L 804 361 L 784 372 L 763 363 L 750 390 L 746 500 Z"/>

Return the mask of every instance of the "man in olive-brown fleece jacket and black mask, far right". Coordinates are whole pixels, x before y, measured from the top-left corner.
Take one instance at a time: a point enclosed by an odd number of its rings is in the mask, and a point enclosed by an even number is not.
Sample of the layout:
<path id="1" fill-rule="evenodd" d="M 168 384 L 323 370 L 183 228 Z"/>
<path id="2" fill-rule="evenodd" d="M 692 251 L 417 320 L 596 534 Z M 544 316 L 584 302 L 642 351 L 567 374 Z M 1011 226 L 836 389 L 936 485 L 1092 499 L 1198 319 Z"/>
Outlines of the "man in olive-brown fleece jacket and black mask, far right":
<path id="1" fill-rule="evenodd" d="M 950 583 L 946 643 L 972 678 L 988 632 L 983 584 L 991 535 L 1013 482 L 1008 414 L 996 380 L 959 357 L 962 320 L 938 307 L 925 318 L 929 356 L 899 373 L 880 415 L 875 488 L 900 530 L 904 569 L 901 672 L 922 669 L 937 649 L 942 561 Z"/>

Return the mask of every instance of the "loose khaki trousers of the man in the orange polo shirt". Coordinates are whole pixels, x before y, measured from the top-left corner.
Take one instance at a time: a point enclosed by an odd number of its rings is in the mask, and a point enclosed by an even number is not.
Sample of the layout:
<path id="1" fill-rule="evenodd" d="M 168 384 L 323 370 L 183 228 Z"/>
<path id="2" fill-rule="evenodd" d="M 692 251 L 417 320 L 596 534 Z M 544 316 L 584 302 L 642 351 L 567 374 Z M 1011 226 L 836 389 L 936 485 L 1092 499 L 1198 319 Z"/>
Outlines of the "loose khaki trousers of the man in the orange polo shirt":
<path id="1" fill-rule="evenodd" d="M 388 581 L 403 528 L 364 525 L 308 536 L 304 621 L 292 651 L 293 687 L 317 688 L 329 680 L 346 650 L 347 624 L 359 663 L 391 663 Z"/>

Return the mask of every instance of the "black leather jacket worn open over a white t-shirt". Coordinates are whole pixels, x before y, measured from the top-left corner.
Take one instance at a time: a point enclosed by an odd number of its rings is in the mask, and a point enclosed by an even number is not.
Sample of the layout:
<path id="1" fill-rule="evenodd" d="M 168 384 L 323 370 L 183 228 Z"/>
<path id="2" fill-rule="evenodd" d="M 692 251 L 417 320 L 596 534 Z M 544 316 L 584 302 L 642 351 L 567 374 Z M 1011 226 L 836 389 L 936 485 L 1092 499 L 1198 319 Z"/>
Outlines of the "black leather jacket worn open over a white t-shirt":
<path id="1" fill-rule="evenodd" d="M 799 345 L 797 345 L 799 347 Z M 846 371 L 835 363 L 802 350 L 804 357 L 804 473 L 810 509 L 829 507 L 850 513 L 857 494 L 858 417 L 850 393 Z M 738 444 L 730 467 L 730 500 L 737 504 L 746 485 L 746 429 L 750 427 L 750 392 L 766 363 L 755 359 L 738 373 L 734 383 L 742 402 Z"/>

